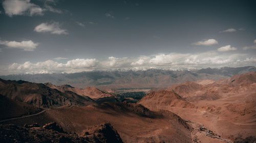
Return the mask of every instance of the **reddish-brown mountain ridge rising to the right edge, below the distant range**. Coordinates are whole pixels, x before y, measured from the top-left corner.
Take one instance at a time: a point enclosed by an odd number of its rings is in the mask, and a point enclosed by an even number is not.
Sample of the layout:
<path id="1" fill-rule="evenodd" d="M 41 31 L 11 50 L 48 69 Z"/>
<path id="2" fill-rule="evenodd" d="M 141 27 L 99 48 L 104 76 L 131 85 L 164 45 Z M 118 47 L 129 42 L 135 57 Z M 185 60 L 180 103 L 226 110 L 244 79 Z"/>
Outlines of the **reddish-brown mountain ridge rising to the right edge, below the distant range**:
<path id="1" fill-rule="evenodd" d="M 217 100 L 234 94 L 256 91 L 256 72 L 234 75 L 229 79 L 209 84 L 199 84 L 200 82 L 176 84 L 167 90 L 174 90 L 188 101 Z"/>

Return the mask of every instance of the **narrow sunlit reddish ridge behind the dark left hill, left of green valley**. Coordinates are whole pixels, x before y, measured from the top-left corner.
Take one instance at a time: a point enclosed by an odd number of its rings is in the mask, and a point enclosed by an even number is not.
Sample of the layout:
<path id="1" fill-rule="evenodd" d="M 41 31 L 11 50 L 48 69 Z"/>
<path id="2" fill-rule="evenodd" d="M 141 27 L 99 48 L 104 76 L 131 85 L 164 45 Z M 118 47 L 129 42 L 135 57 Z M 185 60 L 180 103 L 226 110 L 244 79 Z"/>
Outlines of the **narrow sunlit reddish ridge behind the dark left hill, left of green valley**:
<path id="1" fill-rule="evenodd" d="M 61 92 L 65 91 L 72 91 L 80 96 L 88 96 L 92 99 L 98 99 L 98 98 L 103 98 L 103 97 L 111 97 L 112 95 L 106 92 L 103 92 L 95 87 L 87 87 L 86 89 L 78 89 L 71 87 L 70 85 L 60 85 L 56 86 L 53 85 L 52 83 L 45 83 L 48 87 L 52 89 L 57 89 Z"/>

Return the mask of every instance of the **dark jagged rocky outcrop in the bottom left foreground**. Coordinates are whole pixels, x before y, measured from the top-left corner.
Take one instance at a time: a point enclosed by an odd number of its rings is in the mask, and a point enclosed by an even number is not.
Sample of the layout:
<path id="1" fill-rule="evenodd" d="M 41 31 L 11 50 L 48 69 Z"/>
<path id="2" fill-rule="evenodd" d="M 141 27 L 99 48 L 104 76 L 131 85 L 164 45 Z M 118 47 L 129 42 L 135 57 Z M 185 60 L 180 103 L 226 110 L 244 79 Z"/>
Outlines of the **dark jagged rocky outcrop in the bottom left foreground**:
<path id="1" fill-rule="evenodd" d="M 89 127 L 82 134 L 67 133 L 55 122 L 19 127 L 0 125 L 0 142 L 123 142 L 110 123 Z"/>

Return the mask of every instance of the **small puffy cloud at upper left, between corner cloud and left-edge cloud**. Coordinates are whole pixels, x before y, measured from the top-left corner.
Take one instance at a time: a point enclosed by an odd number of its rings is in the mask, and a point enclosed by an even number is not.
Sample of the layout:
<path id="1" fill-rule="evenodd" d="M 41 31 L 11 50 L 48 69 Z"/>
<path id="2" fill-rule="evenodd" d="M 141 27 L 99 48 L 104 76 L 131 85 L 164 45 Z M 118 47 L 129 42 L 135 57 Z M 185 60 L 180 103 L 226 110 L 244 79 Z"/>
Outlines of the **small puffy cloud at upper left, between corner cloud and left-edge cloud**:
<path id="1" fill-rule="evenodd" d="M 34 31 L 39 33 L 50 32 L 51 34 L 57 34 L 57 35 L 69 34 L 67 30 L 60 28 L 60 24 L 58 22 L 41 23 L 34 28 Z"/>

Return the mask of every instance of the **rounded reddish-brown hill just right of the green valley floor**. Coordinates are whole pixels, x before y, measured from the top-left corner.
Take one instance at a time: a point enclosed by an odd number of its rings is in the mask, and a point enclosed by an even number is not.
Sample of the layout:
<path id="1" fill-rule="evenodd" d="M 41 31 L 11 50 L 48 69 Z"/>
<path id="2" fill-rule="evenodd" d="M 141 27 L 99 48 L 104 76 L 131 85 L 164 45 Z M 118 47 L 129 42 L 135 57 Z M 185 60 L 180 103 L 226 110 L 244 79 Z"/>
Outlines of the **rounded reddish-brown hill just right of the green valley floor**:
<path id="1" fill-rule="evenodd" d="M 195 105 L 187 102 L 180 95 L 173 91 L 160 90 L 148 93 L 139 104 L 153 110 L 164 109 L 168 107 L 194 108 Z"/>

